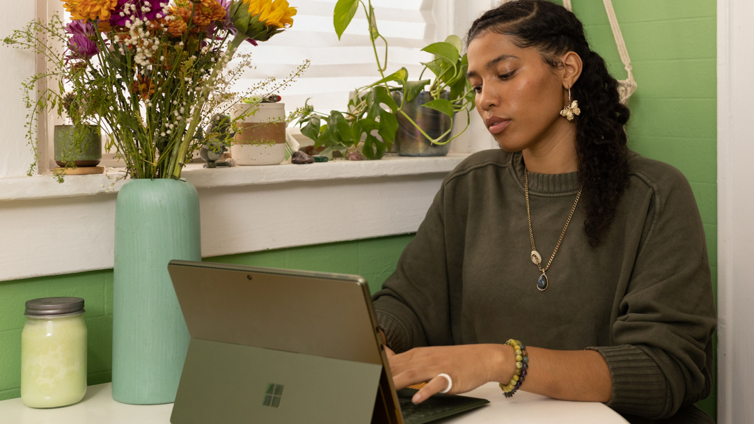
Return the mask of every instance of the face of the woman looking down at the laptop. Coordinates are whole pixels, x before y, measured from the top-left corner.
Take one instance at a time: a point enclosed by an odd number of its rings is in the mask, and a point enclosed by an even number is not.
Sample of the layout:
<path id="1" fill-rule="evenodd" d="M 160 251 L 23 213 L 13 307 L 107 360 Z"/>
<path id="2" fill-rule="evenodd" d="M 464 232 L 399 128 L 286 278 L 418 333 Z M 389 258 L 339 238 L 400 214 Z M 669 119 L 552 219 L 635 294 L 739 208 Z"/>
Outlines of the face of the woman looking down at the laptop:
<path id="1" fill-rule="evenodd" d="M 509 35 L 492 31 L 474 38 L 467 54 L 477 112 L 503 150 L 532 149 L 556 138 L 566 101 L 559 69 L 535 48 L 516 47 Z"/>

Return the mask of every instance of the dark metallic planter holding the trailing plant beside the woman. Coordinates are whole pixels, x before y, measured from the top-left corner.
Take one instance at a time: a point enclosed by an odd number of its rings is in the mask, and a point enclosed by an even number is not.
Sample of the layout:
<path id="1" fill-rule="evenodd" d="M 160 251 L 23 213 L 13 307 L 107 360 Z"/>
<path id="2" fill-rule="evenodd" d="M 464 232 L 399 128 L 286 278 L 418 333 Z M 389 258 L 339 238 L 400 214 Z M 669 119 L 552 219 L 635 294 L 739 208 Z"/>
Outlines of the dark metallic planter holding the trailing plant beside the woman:
<path id="1" fill-rule="evenodd" d="M 396 102 L 400 104 L 402 93 L 394 93 Z M 449 99 L 450 94 L 444 92 L 441 96 L 443 99 Z M 434 109 L 422 107 L 421 105 L 433 100 L 429 91 L 422 91 L 416 98 L 403 106 L 403 111 L 409 115 L 418 126 L 425 131 L 430 137 L 437 138 L 448 131 L 452 125 L 452 120 L 448 115 L 438 112 Z M 398 131 L 395 134 L 395 144 L 398 155 L 401 156 L 445 156 L 450 151 L 450 143 L 444 145 L 432 144 L 405 116 L 397 113 Z M 450 139 L 450 134 L 443 137 L 440 141 Z"/>

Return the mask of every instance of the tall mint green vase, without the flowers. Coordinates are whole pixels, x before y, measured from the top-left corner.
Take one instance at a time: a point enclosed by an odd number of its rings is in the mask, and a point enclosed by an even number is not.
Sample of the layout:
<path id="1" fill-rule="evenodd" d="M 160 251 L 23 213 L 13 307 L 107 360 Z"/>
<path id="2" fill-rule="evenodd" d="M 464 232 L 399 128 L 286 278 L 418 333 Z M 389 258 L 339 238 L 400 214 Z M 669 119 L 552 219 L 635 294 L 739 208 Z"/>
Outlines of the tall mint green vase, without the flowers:
<path id="1" fill-rule="evenodd" d="M 130 180 L 115 201 L 112 398 L 175 401 L 189 349 L 170 260 L 201 260 L 199 195 L 182 180 Z"/>

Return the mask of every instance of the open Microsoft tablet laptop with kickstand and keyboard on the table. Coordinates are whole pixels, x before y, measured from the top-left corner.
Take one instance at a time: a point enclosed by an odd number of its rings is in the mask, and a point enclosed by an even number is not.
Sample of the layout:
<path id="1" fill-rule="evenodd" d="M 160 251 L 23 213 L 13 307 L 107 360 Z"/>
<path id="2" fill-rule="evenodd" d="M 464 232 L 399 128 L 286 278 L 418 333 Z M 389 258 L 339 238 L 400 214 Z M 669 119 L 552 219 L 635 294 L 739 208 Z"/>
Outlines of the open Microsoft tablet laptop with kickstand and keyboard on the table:
<path id="1" fill-rule="evenodd" d="M 437 395 L 413 405 L 415 390 L 397 392 L 360 276 L 167 268 L 191 334 L 173 424 L 422 424 L 489 403 Z"/>

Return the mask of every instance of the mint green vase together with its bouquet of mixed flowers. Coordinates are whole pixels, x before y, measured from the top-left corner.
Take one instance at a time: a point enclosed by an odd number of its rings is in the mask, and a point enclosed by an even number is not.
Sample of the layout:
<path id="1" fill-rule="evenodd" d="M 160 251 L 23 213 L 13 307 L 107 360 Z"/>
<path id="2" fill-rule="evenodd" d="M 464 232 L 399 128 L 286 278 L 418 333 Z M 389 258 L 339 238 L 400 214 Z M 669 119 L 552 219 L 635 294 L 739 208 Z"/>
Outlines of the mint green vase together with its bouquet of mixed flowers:
<path id="1" fill-rule="evenodd" d="M 268 78 L 238 93 L 232 83 L 248 54 L 228 66 L 244 42 L 256 45 L 293 24 L 286 0 L 64 0 L 72 23 L 59 17 L 29 23 L 5 38 L 48 59 L 47 72 L 26 81 L 33 117 L 61 107 L 68 88 L 77 110 L 109 131 L 111 148 L 131 180 L 115 202 L 112 395 L 127 404 L 164 404 L 176 397 L 189 344 L 167 264 L 201 260 L 199 196 L 179 180 L 212 128 L 235 127 L 225 112 L 250 94 L 286 86 Z M 51 45 L 66 46 L 58 54 Z M 58 91 L 31 97 L 43 78 Z M 273 85 L 273 87 L 270 87 Z M 67 87 L 66 87 L 67 86 Z M 250 104 L 248 114 L 254 112 Z M 224 124 L 213 125 L 222 115 Z M 204 130 L 207 128 L 207 130 Z M 225 134 L 225 137 L 229 137 Z M 210 140 L 212 139 L 212 140 Z"/>

